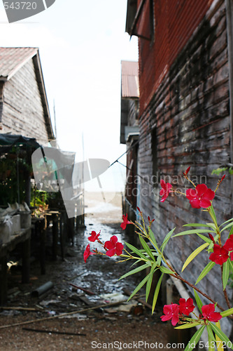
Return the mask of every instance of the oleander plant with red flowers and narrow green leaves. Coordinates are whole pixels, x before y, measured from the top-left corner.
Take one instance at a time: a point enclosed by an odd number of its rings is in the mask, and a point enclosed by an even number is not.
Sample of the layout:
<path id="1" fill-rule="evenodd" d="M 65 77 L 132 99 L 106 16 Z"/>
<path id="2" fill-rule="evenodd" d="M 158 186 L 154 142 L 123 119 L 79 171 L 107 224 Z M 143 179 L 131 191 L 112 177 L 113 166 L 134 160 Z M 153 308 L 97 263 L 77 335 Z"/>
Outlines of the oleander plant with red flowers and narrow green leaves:
<path id="1" fill-rule="evenodd" d="M 190 345 L 197 345 L 199 338 L 202 336 L 202 333 L 206 329 L 209 340 L 216 343 L 218 348 L 218 341 L 220 343 L 225 343 L 227 347 L 229 346 L 233 350 L 232 342 L 221 330 L 220 320 L 223 317 L 229 317 L 233 319 L 233 307 L 230 304 L 230 299 L 227 296 L 227 282 L 229 281 L 230 273 L 233 274 L 233 218 L 225 221 L 221 225 L 218 224 L 216 213 L 213 208 L 213 200 L 216 197 L 216 192 L 218 187 L 225 179 L 223 176 L 216 185 L 216 189 L 212 190 L 210 187 L 207 187 L 206 184 L 195 184 L 189 178 L 190 167 L 183 172 L 183 176 L 192 187 L 190 187 L 185 192 L 174 189 L 174 186 L 171 183 L 166 183 L 163 179 L 160 180 L 161 190 L 160 200 L 162 203 L 166 201 L 170 194 L 182 194 L 185 199 L 188 199 L 190 206 L 196 210 L 201 209 L 201 211 L 206 211 L 211 218 L 211 223 L 188 223 L 185 224 L 185 227 L 190 227 L 191 229 L 184 230 L 178 234 L 174 234 L 174 229 L 170 230 L 167 235 L 164 237 L 162 243 L 158 243 L 156 239 L 156 233 L 153 233 L 152 227 L 153 222 L 156 222 L 155 219 L 150 219 L 150 216 L 145 220 L 143 217 L 143 212 L 139 207 L 138 221 L 128 220 L 127 213 L 122 216 L 122 223 L 120 227 L 122 230 L 125 230 L 127 225 L 134 225 L 135 233 L 139 235 L 139 241 L 141 246 L 136 248 L 132 244 L 125 242 L 125 246 L 118 241 L 118 237 L 113 235 L 108 241 L 102 242 L 100 239 L 100 232 L 92 231 L 88 240 L 90 243 L 98 243 L 102 247 L 102 251 L 99 249 L 90 249 L 90 244 L 87 244 L 83 258 L 85 262 L 87 258 L 91 255 L 105 255 L 108 257 L 119 256 L 122 258 L 121 262 L 126 260 L 134 260 L 132 266 L 133 269 L 125 273 L 120 279 L 126 278 L 131 274 L 136 274 L 146 271 L 146 276 L 139 283 L 138 286 L 134 289 L 129 296 L 129 299 L 134 297 L 134 295 L 146 285 L 146 301 L 148 301 L 148 296 L 152 289 L 153 274 L 155 272 L 160 272 L 160 277 L 157 281 L 157 286 L 155 291 L 153 291 L 153 303 L 151 306 L 152 313 L 155 311 L 155 305 L 157 303 L 158 294 L 160 292 L 160 287 L 162 286 L 162 279 L 164 275 L 169 275 L 173 279 L 181 280 L 184 284 L 189 286 L 190 291 L 192 291 L 192 297 L 195 298 L 195 302 L 192 298 L 180 298 L 179 303 L 171 303 L 170 305 L 164 305 L 163 315 L 160 317 L 162 322 L 171 321 L 171 324 L 176 327 L 176 329 L 188 329 L 194 326 L 198 326 L 199 329 L 192 336 L 192 343 L 188 343 L 185 348 L 185 351 L 192 351 L 193 347 Z M 156 230 L 156 225 L 155 225 Z M 228 237 L 223 242 L 222 234 L 228 231 Z M 209 263 L 206 267 L 199 273 L 197 281 L 189 282 L 187 279 L 184 279 L 181 274 L 176 272 L 174 267 L 172 267 L 169 258 L 165 255 L 166 246 L 171 238 L 181 237 L 183 235 L 197 235 L 202 239 L 203 244 L 198 246 L 197 249 L 190 253 L 190 256 L 185 260 L 182 267 L 182 272 L 185 268 L 194 261 L 199 253 L 206 251 L 207 257 L 209 257 Z M 195 240 L 193 241 L 196 242 Z M 104 251 L 104 252 L 103 252 Z M 169 253 L 169 252 L 168 252 Z M 138 263 L 141 263 L 137 266 Z M 195 264 L 194 262 L 192 262 Z M 199 289 L 197 284 L 206 277 L 209 272 L 213 269 L 215 265 L 220 265 L 220 286 L 223 287 L 223 295 L 225 297 L 227 307 L 226 310 L 223 308 L 218 301 L 213 300 L 206 291 Z M 209 304 L 202 303 L 202 298 L 209 300 Z M 199 314 L 197 313 L 196 307 L 199 309 Z M 192 317 L 190 317 L 190 314 Z M 178 324 L 178 326 L 176 326 Z M 195 341 L 195 342 L 194 342 Z M 223 345 L 222 345 L 223 346 Z M 219 350 L 223 350 L 223 347 L 220 346 Z M 212 350 L 212 349 L 211 349 Z"/>

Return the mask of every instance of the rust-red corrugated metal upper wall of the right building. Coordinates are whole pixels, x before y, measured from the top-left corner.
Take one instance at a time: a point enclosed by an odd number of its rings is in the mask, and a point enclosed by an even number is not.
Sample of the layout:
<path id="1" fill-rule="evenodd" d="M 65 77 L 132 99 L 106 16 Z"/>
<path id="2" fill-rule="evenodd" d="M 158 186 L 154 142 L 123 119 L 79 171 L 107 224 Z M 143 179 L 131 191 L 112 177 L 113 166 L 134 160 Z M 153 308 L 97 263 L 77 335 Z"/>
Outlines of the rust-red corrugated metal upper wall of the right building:
<path id="1" fill-rule="evenodd" d="M 140 106 L 145 110 L 178 53 L 203 20 L 213 0 L 156 0 L 155 39 L 139 38 Z M 140 32 L 148 32 L 148 1 L 139 20 Z"/>

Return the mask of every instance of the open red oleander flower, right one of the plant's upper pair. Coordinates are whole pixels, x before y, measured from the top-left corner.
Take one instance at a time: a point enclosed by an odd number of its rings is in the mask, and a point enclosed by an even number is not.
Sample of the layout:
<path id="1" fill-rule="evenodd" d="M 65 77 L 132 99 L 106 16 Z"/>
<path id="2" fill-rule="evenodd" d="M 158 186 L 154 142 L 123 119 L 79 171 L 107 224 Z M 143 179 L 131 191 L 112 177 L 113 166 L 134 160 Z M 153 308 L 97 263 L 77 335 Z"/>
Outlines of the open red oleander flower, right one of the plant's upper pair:
<path id="1" fill-rule="evenodd" d="M 215 194 L 205 184 L 198 184 L 195 189 L 186 190 L 186 197 L 190 200 L 192 208 L 208 208 L 211 206 L 211 200 L 213 200 Z"/>

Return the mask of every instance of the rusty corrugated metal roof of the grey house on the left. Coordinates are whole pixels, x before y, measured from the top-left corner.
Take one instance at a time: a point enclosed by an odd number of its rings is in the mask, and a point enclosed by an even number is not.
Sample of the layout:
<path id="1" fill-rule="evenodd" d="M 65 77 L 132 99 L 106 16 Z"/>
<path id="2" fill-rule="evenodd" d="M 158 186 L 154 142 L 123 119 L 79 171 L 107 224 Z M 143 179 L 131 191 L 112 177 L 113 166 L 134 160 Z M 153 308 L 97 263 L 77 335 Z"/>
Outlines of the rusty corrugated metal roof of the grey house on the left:
<path id="1" fill-rule="evenodd" d="M 10 79 L 37 52 L 38 48 L 0 47 L 0 79 Z"/>

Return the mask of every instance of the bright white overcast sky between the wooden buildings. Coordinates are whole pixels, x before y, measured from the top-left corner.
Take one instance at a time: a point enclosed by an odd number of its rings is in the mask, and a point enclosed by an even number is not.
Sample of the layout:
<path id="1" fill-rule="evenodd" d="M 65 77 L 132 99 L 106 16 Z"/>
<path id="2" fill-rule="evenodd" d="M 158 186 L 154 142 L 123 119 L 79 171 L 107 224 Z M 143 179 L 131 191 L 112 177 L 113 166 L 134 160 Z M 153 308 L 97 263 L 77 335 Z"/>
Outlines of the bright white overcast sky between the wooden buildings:
<path id="1" fill-rule="evenodd" d="M 46 11 L 8 24 L 0 4 L 0 45 L 39 48 L 53 125 L 55 100 L 59 147 L 77 152 L 80 161 L 82 138 L 85 159 L 112 163 L 125 152 L 120 61 L 138 60 L 137 40 L 125 33 L 126 12 L 127 0 L 56 0 Z"/>

